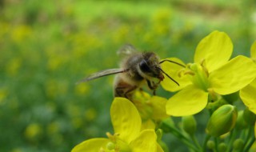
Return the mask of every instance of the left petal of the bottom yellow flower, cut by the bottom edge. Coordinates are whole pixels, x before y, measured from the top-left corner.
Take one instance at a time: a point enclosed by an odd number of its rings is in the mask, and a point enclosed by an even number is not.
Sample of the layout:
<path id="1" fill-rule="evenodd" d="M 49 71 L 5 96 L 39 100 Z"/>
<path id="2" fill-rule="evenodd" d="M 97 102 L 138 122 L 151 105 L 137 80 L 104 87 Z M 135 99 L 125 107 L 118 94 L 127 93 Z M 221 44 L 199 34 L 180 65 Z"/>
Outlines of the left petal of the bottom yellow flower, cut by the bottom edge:
<path id="1" fill-rule="evenodd" d="M 77 146 L 75 146 L 71 150 L 71 152 L 82 152 L 82 151 L 98 152 L 101 147 L 105 148 L 108 142 L 110 142 L 108 138 L 92 138 L 79 143 Z"/>

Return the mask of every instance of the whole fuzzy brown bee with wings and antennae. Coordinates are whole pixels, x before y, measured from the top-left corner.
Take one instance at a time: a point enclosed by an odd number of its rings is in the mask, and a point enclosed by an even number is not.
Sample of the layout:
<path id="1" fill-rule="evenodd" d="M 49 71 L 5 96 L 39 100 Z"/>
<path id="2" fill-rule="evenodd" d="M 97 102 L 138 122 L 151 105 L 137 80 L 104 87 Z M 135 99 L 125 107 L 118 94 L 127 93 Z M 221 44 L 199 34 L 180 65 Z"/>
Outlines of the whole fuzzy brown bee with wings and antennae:
<path id="1" fill-rule="evenodd" d="M 80 82 L 88 82 L 95 78 L 117 74 L 114 78 L 114 97 L 124 97 L 128 99 L 131 99 L 134 90 L 142 88 L 144 83 L 147 84 L 150 90 L 153 90 L 153 94 L 155 95 L 155 90 L 158 88 L 159 83 L 165 78 L 164 74 L 179 86 L 178 82 L 161 69 L 163 62 L 173 61 L 160 61 L 158 55 L 154 54 L 154 52 L 138 52 L 134 46 L 130 44 L 118 50 L 118 54 L 126 56 L 126 58 L 122 59 L 120 68 L 102 70 L 90 74 Z M 178 62 L 173 63 L 183 66 Z"/>

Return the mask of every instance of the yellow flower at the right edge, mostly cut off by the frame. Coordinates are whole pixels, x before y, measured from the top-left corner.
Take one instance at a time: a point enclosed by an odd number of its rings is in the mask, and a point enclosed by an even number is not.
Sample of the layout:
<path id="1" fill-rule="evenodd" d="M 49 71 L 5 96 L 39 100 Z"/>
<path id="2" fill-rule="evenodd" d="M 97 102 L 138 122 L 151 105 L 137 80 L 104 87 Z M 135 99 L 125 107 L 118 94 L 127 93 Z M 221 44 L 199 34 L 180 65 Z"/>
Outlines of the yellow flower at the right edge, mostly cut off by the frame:
<path id="1" fill-rule="evenodd" d="M 250 48 L 250 57 L 256 62 L 256 41 Z M 256 114 L 256 78 L 248 86 L 240 90 L 242 102 Z"/>

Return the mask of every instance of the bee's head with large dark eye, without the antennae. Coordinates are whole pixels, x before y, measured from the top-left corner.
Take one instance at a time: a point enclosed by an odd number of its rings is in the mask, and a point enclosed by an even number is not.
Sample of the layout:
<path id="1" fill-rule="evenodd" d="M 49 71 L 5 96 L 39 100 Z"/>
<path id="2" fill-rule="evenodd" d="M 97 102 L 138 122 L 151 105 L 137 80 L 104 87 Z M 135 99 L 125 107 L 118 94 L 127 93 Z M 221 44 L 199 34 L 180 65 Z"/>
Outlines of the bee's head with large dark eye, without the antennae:
<path id="1" fill-rule="evenodd" d="M 159 64 L 159 58 L 152 52 L 142 54 L 142 61 L 139 62 L 138 67 L 141 71 L 142 77 L 148 79 L 152 77 L 158 78 L 160 81 L 164 78 Z"/>

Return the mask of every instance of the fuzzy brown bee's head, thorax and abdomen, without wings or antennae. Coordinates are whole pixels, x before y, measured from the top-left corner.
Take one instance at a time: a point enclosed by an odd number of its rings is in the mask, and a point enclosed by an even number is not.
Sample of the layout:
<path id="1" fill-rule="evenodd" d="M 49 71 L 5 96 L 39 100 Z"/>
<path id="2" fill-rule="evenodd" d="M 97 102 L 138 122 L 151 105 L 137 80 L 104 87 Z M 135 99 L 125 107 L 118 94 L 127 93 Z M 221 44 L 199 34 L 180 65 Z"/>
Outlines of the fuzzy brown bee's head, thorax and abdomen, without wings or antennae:
<path id="1" fill-rule="evenodd" d="M 158 56 L 152 52 L 130 54 L 121 63 L 121 68 L 127 71 L 114 79 L 114 97 L 130 99 L 134 90 L 146 82 L 151 90 L 155 90 L 158 83 L 151 81 L 163 78 L 158 62 Z"/>

